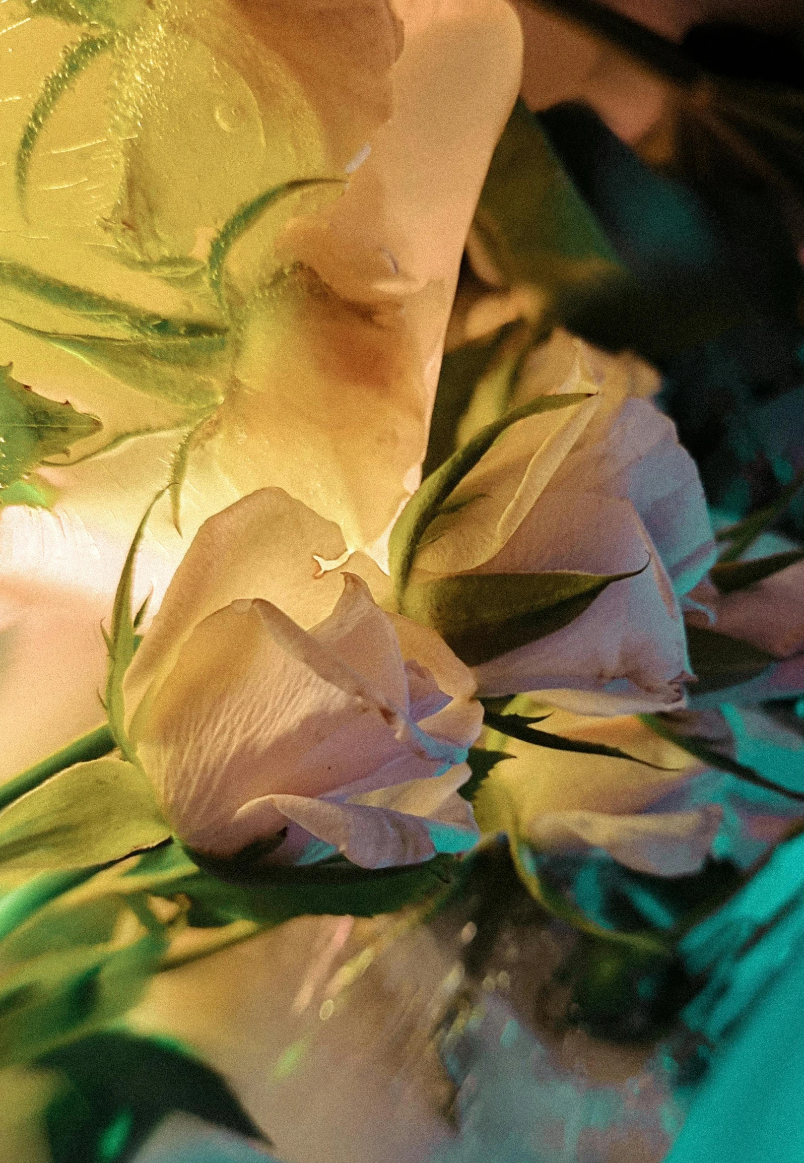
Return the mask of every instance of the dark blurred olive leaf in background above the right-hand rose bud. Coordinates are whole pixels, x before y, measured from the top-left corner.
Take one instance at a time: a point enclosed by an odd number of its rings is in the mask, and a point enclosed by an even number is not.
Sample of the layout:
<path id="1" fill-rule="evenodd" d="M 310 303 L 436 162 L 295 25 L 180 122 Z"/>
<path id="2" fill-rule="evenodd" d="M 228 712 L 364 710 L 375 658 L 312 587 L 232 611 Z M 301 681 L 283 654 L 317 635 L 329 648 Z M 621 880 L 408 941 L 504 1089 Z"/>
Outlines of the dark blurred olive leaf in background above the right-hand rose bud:
<path id="1" fill-rule="evenodd" d="M 537 119 L 518 101 L 491 158 L 474 229 L 512 286 L 537 286 L 561 317 L 570 306 L 627 280 Z"/>

